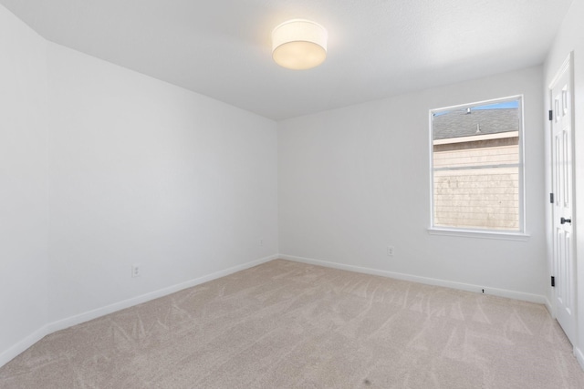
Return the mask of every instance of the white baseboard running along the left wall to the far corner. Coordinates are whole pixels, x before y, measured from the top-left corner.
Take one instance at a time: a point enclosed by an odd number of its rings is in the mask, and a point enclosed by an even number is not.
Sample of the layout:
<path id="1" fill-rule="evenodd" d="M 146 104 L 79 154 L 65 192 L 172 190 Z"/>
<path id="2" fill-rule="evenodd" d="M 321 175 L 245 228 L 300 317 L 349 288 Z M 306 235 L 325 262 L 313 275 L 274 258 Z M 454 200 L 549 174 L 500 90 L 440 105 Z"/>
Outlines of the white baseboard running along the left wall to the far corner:
<path id="1" fill-rule="evenodd" d="M 89 312 L 79 313 L 75 316 L 68 317 L 66 319 L 59 320 L 57 322 L 50 322 L 43 327 L 36 330 L 34 333 L 26 336 L 25 339 L 20 340 L 15 345 L 0 353 L 0 367 L 4 366 L 6 363 L 12 361 L 18 354 L 24 352 L 28 347 L 32 346 L 36 342 L 40 341 L 43 337 L 47 336 L 49 333 L 55 333 L 59 330 L 71 327 L 73 325 L 80 324 L 81 322 L 88 322 L 89 320 L 96 319 L 100 316 L 106 314 L 117 312 L 126 308 L 130 308 L 134 305 L 141 304 L 142 302 L 150 302 L 151 300 L 158 299 L 160 297 L 166 296 L 168 294 L 182 291 L 183 289 L 191 288 L 193 286 L 199 285 L 203 282 L 209 282 L 216 280 L 218 278 L 224 277 L 226 275 L 235 273 L 236 271 L 243 271 L 245 269 L 252 268 L 259 264 L 273 261 L 279 258 L 278 255 L 271 255 L 269 257 L 261 258 L 256 261 L 246 262 L 241 265 L 234 266 L 223 271 L 215 271 L 214 273 L 205 275 L 203 277 L 196 278 L 187 282 L 181 282 L 176 285 L 169 286 L 167 288 L 160 289 L 158 291 L 149 292 L 142 294 L 140 296 L 132 297 L 131 299 L 124 300 L 121 302 L 115 302 L 113 304 L 101 307 Z"/>

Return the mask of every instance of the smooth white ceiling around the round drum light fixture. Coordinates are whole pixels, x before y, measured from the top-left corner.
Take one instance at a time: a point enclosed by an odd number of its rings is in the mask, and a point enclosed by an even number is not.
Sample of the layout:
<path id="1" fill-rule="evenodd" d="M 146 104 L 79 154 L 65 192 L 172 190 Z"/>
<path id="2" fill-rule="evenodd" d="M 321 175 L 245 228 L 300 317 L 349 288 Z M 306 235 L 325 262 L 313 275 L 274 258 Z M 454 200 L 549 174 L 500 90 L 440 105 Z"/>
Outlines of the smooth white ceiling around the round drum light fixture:
<path id="1" fill-rule="evenodd" d="M 266 118 L 302 116 L 541 64 L 572 0 L 0 0 L 41 36 Z M 291 18 L 323 65 L 271 58 Z"/>

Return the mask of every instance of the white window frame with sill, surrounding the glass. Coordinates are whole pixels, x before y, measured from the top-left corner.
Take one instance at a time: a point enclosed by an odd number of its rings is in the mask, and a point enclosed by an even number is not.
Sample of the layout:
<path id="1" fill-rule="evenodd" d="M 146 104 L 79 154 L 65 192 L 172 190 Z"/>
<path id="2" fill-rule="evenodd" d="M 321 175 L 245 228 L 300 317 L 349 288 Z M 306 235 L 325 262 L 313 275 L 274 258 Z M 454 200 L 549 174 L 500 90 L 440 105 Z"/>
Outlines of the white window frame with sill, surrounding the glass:
<path id="1" fill-rule="evenodd" d="M 434 169 L 433 169 L 433 116 L 436 113 L 453 109 L 464 109 L 466 107 L 485 106 L 495 103 L 505 103 L 506 101 L 519 101 L 519 141 L 518 141 L 518 173 L 519 173 L 519 230 L 490 230 L 490 229 L 469 229 L 460 227 L 443 227 L 434 225 Z M 465 103 L 457 106 L 441 107 L 430 109 L 428 112 L 429 152 L 430 152 L 430 227 L 428 233 L 432 235 L 450 235 L 471 238 L 485 238 L 511 241 L 527 241 L 529 235 L 526 231 L 526 199 L 525 199 L 525 128 L 524 128 L 524 105 L 523 95 L 493 98 L 489 100 Z"/>

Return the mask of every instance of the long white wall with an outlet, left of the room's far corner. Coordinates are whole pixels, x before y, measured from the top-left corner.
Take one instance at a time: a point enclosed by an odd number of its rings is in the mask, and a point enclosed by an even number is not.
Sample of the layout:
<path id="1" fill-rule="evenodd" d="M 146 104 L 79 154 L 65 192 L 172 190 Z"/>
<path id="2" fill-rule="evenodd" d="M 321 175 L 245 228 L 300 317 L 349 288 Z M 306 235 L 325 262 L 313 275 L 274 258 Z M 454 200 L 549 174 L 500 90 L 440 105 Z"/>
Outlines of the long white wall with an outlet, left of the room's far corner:
<path id="1" fill-rule="evenodd" d="M 54 44 L 48 79 L 51 321 L 277 253 L 276 122 Z"/>

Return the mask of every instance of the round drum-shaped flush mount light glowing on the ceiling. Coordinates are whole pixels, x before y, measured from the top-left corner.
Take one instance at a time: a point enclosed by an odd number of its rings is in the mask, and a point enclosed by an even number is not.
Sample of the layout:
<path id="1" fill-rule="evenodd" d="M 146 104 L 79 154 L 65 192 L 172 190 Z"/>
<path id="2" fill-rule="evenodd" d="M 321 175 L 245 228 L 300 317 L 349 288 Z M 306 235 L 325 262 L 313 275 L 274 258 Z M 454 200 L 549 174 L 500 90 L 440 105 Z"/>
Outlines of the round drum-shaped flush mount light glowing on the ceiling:
<path id="1" fill-rule="evenodd" d="M 272 57 L 288 69 L 318 67 L 327 57 L 327 30 L 309 20 L 288 20 L 272 31 Z"/>

